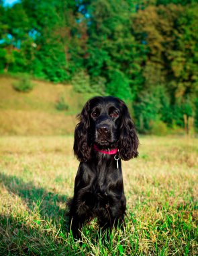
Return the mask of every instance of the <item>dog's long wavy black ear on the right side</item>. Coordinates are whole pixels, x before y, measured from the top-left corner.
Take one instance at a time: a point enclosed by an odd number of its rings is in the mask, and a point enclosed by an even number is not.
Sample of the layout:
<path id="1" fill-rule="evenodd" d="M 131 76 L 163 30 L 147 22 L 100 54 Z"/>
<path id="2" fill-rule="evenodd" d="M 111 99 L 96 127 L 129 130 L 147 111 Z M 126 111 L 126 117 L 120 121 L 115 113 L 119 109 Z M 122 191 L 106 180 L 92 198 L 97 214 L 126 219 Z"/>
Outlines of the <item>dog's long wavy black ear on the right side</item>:
<path id="1" fill-rule="evenodd" d="M 138 156 L 139 139 L 136 134 L 135 125 L 130 117 L 128 107 L 122 105 L 122 121 L 119 135 L 119 156 L 123 160 L 130 160 Z"/>

